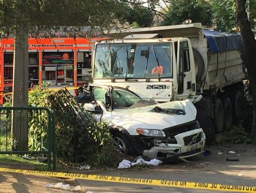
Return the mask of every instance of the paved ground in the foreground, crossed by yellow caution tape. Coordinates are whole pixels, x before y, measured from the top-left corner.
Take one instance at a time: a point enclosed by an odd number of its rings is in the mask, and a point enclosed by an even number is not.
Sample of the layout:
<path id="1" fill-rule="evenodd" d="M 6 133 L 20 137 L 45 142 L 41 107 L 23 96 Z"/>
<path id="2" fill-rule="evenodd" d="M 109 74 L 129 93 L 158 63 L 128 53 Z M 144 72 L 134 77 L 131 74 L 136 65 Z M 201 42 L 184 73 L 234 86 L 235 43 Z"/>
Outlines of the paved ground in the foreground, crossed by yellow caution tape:
<path id="1" fill-rule="evenodd" d="M 170 179 L 174 181 L 256 186 L 256 145 L 214 145 L 206 147 L 205 150 L 208 150 L 205 155 L 201 154 L 196 156 L 190 159 L 189 163 L 178 161 L 176 163 L 168 163 L 156 167 L 144 167 L 142 170 L 140 170 L 141 168 L 125 170 L 113 168 L 111 170 L 84 170 L 84 173 L 106 176 L 130 176 L 143 179 Z M 226 161 L 227 158 L 232 161 Z M 0 165 L 0 167 L 3 167 L 3 165 Z M 14 167 L 14 165 L 12 165 L 12 167 Z M 21 169 L 30 170 L 32 168 L 22 167 Z M 77 173 L 75 171 L 73 172 Z M 91 191 L 93 193 L 195 191 L 184 188 L 171 190 L 170 187 L 160 188 L 147 185 L 60 179 L 0 172 L 0 192 L 70 192 L 46 187 L 48 184 L 55 185 L 62 181 L 64 181 L 65 184 L 71 185 L 71 187 L 75 187 L 79 183 L 82 187 L 80 192 Z"/>

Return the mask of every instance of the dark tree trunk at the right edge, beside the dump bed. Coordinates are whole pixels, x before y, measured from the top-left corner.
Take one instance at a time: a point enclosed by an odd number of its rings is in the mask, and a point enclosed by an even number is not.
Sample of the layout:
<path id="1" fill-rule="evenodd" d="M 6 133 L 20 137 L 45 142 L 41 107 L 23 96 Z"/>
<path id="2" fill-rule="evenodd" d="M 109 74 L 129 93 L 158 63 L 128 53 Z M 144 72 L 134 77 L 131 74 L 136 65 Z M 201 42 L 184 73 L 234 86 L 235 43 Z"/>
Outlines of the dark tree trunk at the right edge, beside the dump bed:
<path id="1" fill-rule="evenodd" d="M 247 68 L 253 99 L 253 127 L 251 133 L 256 136 L 256 41 L 246 13 L 246 0 L 236 0 L 236 4 L 237 22 L 243 39 L 240 54 Z"/>

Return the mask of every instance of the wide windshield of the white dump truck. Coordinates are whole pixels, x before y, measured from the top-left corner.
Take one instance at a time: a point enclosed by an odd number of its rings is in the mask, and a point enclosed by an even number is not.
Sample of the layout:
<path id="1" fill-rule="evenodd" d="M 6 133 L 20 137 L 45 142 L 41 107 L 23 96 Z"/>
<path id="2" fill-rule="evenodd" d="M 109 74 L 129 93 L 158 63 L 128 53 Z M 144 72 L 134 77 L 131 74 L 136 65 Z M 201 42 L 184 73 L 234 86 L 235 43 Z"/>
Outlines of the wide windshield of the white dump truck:
<path id="1" fill-rule="evenodd" d="M 171 78 L 171 44 L 98 44 L 93 74 L 94 79 Z"/>

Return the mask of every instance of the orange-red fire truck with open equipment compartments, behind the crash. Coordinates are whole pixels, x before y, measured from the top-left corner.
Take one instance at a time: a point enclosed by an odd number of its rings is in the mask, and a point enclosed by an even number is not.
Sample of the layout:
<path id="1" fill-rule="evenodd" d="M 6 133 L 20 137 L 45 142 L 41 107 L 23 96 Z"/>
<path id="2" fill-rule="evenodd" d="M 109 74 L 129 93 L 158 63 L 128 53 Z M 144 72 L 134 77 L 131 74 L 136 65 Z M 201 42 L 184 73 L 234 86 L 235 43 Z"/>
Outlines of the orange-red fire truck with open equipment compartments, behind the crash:
<path id="1" fill-rule="evenodd" d="M 29 38 L 28 78 L 34 85 L 77 87 L 91 81 L 91 49 L 100 38 Z M 13 56 L 15 40 L 0 41 L 0 90 L 12 92 Z M 19 64 L 17 64 L 19 65 Z M 0 103 L 3 103 L 3 94 Z"/>

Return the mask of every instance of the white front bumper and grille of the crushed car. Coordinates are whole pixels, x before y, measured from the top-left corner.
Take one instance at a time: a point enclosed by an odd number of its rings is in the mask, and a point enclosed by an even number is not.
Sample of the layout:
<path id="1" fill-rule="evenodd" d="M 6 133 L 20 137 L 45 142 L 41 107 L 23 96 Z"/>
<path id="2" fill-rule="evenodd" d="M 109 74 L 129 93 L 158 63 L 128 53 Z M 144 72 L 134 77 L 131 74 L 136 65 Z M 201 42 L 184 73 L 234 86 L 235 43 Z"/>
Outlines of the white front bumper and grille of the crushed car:
<path id="1" fill-rule="evenodd" d="M 151 149 L 144 150 L 143 156 L 147 156 L 149 159 L 184 159 L 203 152 L 205 134 L 201 128 L 183 132 L 174 137 L 177 141 L 176 144 L 158 143 Z"/>

